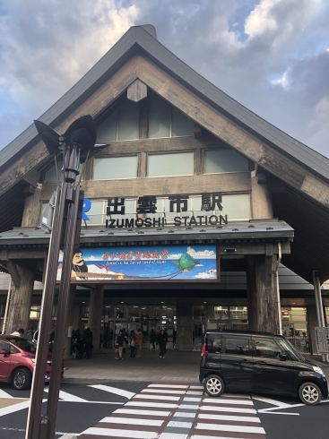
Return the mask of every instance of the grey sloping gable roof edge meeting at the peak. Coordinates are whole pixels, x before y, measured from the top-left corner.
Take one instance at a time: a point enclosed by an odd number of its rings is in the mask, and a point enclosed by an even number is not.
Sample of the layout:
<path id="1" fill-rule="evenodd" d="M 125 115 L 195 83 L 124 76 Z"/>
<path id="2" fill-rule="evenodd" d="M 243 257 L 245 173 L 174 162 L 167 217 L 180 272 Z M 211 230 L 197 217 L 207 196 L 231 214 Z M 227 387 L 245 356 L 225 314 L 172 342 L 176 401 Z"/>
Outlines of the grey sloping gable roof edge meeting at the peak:
<path id="1" fill-rule="evenodd" d="M 56 126 L 102 83 L 106 82 L 131 56 L 137 53 L 151 59 L 154 64 L 170 73 L 188 90 L 192 90 L 212 107 L 217 108 L 225 116 L 242 125 L 248 132 L 266 141 L 273 149 L 289 156 L 299 165 L 306 167 L 312 174 L 320 178 L 329 178 L 329 159 L 264 121 L 260 116 L 255 115 L 212 85 L 211 82 L 205 80 L 160 44 L 156 39 L 155 29 L 151 25 L 130 28 L 72 89 L 68 90 L 46 113 L 39 117 L 39 120 L 48 125 Z M 7 168 L 8 164 L 12 163 L 13 159 L 19 156 L 22 151 L 26 151 L 26 148 L 31 143 L 36 142 L 36 139 L 37 131 L 34 125 L 30 125 L 4 150 L 0 151 L 0 170 Z"/>

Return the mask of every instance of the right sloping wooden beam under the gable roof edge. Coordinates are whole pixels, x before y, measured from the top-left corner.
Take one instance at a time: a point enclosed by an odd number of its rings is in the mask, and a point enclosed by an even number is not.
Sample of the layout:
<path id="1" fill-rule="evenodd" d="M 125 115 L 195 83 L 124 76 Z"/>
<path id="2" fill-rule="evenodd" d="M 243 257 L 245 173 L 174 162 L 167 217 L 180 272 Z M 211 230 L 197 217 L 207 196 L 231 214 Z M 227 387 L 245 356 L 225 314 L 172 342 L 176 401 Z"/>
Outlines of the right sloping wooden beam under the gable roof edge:
<path id="1" fill-rule="evenodd" d="M 281 152 L 273 150 L 142 56 L 139 56 L 138 77 L 162 98 L 191 117 L 196 124 L 203 126 L 288 185 L 329 208 L 329 184 L 319 180 Z"/>

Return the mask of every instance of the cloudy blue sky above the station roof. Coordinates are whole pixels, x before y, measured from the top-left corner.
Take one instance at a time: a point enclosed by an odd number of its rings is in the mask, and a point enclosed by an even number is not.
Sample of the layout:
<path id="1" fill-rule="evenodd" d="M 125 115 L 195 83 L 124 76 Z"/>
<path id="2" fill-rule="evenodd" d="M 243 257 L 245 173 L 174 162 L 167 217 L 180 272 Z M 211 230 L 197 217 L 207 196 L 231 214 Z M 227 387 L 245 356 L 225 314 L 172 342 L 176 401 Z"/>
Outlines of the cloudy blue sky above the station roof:
<path id="1" fill-rule="evenodd" d="M 329 0 L 0 0 L 0 150 L 139 24 L 329 157 Z"/>

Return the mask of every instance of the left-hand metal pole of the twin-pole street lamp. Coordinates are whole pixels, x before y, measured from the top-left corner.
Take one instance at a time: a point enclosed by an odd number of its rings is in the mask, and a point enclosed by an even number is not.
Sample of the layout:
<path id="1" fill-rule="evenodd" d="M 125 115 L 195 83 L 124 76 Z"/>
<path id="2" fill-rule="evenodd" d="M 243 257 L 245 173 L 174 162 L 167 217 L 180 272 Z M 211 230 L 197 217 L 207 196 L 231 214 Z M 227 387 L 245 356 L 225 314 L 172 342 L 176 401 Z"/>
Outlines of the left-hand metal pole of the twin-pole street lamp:
<path id="1" fill-rule="evenodd" d="M 36 353 L 36 366 L 34 368 L 32 387 L 30 391 L 30 408 L 25 439 L 39 439 L 42 396 L 45 386 L 45 374 L 48 359 L 50 323 L 55 297 L 57 262 L 62 234 L 63 217 L 65 211 L 65 194 L 67 187 L 67 183 L 62 183 L 61 187 L 58 187 L 56 192 L 53 230 L 50 236 L 48 248 L 45 287 L 42 294 L 39 320 L 39 339 Z M 42 417 L 42 428 L 45 423 L 47 424 L 47 418 Z"/>

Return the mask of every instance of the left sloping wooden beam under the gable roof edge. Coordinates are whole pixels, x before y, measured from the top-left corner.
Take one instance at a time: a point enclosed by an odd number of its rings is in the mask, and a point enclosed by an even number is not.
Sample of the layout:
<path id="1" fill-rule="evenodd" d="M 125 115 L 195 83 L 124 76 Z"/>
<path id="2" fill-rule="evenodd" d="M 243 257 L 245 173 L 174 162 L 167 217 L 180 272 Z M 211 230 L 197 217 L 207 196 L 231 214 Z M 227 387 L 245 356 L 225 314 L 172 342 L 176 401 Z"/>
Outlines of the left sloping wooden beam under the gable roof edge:
<path id="1" fill-rule="evenodd" d="M 96 117 L 117 99 L 137 77 L 138 58 L 135 56 L 115 73 L 99 90 L 95 91 L 89 99 L 76 108 L 65 120 L 54 127 L 58 133 L 64 133 L 66 128 L 80 116 L 91 115 Z M 18 183 L 30 170 L 37 168 L 49 154 L 44 142 L 36 143 L 13 165 L 4 170 L 0 176 L 0 196 L 13 185 Z"/>

